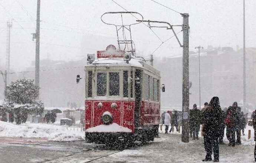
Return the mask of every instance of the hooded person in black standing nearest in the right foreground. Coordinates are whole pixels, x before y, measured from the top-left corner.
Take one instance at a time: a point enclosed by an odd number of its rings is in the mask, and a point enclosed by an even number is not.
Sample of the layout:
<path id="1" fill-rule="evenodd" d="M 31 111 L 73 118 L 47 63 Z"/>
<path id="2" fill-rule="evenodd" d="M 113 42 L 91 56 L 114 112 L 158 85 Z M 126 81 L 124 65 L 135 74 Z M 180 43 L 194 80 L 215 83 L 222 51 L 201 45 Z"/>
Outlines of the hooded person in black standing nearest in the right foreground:
<path id="1" fill-rule="evenodd" d="M 206 137 L 206 157 L 203 161 L 211 161 L 213 151 L 213 162 L 219 162 L 218 137 L 220 135 L 221 108 L 219 97 L 213 97 L 209 103 L 209 109 L 204 111 L 203 124 L 204 136 Z"/>

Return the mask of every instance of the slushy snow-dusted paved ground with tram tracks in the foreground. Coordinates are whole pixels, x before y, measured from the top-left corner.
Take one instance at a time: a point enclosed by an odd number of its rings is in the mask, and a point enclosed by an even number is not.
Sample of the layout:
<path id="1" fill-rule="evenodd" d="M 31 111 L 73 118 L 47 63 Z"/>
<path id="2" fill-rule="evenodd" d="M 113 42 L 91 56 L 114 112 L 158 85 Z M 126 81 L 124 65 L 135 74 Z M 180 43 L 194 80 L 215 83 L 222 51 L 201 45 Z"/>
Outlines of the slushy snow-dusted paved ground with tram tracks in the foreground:
<path id="1" fill-rule="evenodd" d="M 123 151 L 75 143 L 1 143 L 0 163 L 201 163 L 203 140 L 182 143 L 180 135 L 160 134 L 144 146 Z M 254 146 L 220 146 L 220 162 L 253 162 Z"/>

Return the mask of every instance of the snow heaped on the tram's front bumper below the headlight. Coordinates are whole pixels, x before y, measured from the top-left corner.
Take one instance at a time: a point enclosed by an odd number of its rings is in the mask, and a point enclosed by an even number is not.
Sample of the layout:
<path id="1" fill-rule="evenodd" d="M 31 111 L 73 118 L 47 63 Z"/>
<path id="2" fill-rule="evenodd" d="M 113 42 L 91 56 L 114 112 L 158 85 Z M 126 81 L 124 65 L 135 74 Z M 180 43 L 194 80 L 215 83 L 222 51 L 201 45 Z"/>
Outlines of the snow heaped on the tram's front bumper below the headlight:
<path id="1" fill-rule="evenodd" d="M 132 130 L 126 127 L 119 126 L 116 123 L 112 123 L 109 125 L 101 124 L 99 126 L 86 129 L 86 132 L 127 132 L 128 133 L 128 132 L 132 132 Z"/>

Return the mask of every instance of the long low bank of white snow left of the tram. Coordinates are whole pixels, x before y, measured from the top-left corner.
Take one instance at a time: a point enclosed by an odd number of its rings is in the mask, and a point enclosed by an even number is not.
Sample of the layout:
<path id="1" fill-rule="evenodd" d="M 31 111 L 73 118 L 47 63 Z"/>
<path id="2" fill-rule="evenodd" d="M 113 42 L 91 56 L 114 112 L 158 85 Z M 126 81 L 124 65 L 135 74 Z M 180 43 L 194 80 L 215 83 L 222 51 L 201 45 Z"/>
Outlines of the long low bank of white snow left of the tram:
<path id="1" fill-rule="evenodd" d="M 0 137 L 34 137 L 47 138 L 55 142 L 72 142 L 84 140 L 85 134 L 82 131 L 68 130 L 67 127 L 54 124 L 32 124 L 16 125 L 0 121 Z"/>

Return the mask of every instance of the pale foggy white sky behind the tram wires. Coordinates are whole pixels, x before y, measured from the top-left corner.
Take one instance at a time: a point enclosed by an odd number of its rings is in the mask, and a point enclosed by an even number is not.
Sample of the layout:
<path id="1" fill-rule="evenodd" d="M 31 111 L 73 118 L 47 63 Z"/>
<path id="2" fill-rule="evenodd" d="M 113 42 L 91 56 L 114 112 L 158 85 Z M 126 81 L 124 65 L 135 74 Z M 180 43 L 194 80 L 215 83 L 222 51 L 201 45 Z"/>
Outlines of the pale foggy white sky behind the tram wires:
<path id="1" fill-rule="evenodd" d="M 151 0 L 115 1 L 129 11 L 141 13 L 145 20 L 182 24 L 180 14 Z M 190 14 L 190 50 L 194 50 L 198 45 L 231 46 L 234 49 L 239 45 L 242 48 L 243 0 L 156 1 L 180 13 Z M 32 41 L 30 33 L 35 33 L 36 0 L 0 0 L 0 4 L 0 67 L 5 67 L 6 21 L 14 19 L 11 30 L 10 68 L 22 71 L 26 67 L 31 67 L 31 61 L 35 60 L 35 41 Z M 256 47 L 255 8 L 255 0 L 246 0 L 246 47 Z M 116 39 L 115 28 L 107 26 L 100 19 L 101 15 L 108 11 L 124 10 L 111 0 L 41 0 L 40 59 L 48 57 L 53 60 L 72 60 L 96 50 L 104 50 L 97 48 L 97 42 L 95 46 L 86 46 L 82 43 L 85 42 L 83 39 L 90 39 L 91 36 Z M 162 40 L 173 36 L 170 30 L 153 30 Z M 175 31 L 180 30 L 180 27 L 175 27 Z M 143 24 L 132 27 L 132 37 L 136 50 L 144 56 L 151 54 L 161 44 L 161 41 Z M 178 34 L 178 38 L 182 42 L 182 33 Z M 154 55 L 161 57 L 181 53 L 182 48 L 179 47 L 177 40 L 172 38 Z"/>

